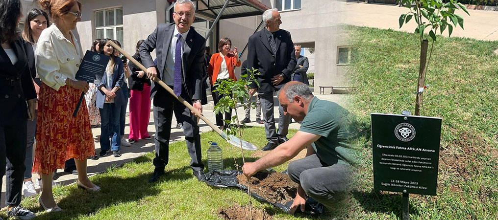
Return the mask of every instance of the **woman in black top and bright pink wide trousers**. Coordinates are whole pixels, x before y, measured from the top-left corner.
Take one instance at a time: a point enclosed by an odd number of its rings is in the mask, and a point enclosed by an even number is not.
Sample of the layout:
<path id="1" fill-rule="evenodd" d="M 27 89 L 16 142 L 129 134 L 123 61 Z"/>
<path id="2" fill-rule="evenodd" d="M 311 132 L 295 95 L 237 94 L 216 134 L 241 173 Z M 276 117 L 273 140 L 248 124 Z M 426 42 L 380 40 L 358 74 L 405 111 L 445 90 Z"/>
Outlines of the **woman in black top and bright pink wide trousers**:
<path id="1" fill-rule="evenodd" d="M 133 58 L 141 64 L 142 59 L 138 53 L 138 47 L 144 40 L 136 43 L 136 51 Z M 147 127 L 150 119 L 150 79 L 147 74 L 140 70 L 131 61 L 129 62 L 131 77 L 128 78 L 131 95 L 129 97 L 129 136 L 128 141 L 134 143 L 138 139 L 150 139 Z"/>

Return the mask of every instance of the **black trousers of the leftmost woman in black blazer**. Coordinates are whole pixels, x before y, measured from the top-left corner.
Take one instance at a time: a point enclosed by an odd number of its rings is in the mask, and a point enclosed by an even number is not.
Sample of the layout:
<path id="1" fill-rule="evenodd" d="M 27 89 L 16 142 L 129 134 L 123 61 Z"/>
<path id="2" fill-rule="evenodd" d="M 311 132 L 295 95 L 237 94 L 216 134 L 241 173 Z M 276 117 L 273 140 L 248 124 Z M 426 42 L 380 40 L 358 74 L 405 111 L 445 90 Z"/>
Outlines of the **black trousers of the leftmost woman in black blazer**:
<path id="1" fill-rule="evenodd" d="M 20 109 L 26 111 L 25 107 Z M 7 206 L 17 206 L 21 203 L 22 184 L 26 170 L 24 165 L 26 128 L 26 118 L 19 118 L 11 125 L 0 125 L 0 177 L 6 172 L 5 205 Z M 2 180 L 0 179 L 0 187 L 1 184 Z"/>

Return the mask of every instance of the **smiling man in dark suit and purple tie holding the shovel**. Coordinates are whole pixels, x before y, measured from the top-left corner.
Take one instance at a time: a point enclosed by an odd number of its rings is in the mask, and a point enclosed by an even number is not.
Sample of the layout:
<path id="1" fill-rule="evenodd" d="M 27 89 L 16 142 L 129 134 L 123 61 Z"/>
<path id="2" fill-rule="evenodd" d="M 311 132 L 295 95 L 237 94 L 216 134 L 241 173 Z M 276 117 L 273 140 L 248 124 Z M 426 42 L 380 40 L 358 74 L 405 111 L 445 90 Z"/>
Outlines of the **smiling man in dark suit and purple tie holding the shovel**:
<path id="1" fill-rule="evenodd" d="M 174 24 L 159 24 L 152 34 L 140 45 L 139 53 L 147 77 L 152 81 L 162 80 L 177 96 L 190 102 L 202 114 L 202 72 L 204 64 L 205 39 L 193 28 L 195 5 L 190 0 L 177 0 L 174 5 Z M 156 50 L 157 66 L 150 56 Z M 151 88 L 153 97 L 155 134 L 154 174 L 149 182 L 155 182 L 164 175 L 168 163 L 169 136 L 173 109 L 181 108 L 179 123 L 189 155 L 190 167 L 198 180 L 204 179 L 204 164 L 201 162 L 201 137 L 195 115 L 183 106 L 173 95 L 154 82 Z"/>

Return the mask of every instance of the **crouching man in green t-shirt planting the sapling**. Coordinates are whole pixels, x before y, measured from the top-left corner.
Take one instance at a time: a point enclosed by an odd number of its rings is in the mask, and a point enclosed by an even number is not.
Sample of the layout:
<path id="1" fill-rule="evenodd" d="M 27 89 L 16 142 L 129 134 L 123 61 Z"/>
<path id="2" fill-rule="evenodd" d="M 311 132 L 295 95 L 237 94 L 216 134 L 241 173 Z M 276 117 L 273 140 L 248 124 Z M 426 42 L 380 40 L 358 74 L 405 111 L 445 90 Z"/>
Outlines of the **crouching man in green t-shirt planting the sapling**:
<path id="1" fill-rule="evenodd" d="M 279 100 L 284 114 L 302 121 L 299 131 L 264 157 L 246 162 L 242 170 L 251 176 L 292 159 L 307 147 L 306 157 L 289 163 L 289 177 L 299 184 L 289 213 L 298 208 L 304 212 L 306 195 L 330 208 L 352 181 L 353 156 L 347 144 L 352 137 L 352 114 L 337 103 L 314 97 L 306 84 L 297 81 L 283 87 Z"/>

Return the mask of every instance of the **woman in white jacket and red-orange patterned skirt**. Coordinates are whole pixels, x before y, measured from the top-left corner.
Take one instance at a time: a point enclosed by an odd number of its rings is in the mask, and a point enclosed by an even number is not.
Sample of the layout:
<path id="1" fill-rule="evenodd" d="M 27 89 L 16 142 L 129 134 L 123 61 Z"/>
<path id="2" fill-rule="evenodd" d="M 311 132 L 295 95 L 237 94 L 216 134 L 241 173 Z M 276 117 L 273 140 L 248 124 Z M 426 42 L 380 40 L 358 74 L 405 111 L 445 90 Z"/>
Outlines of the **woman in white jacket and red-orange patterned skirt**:
<path id="1" fill-rule="evenodd" d="M 75 79 L 81 64 L 80 46 L 71 30 L 81 20 L 81 3 L 77 0 L 38 0 L 54 24 L 45 29 L 36 46 L 37 73 L 41 79 L 36 126 L 36 153 L 33 172 L 39 173 L 43 191 L 38 198 L 46 212 L 59 212 L 52 194 L 52 172 L 74 158 L 78 170 L 77 185 L 98 191 L 87 176 L 87 157 L 95 154 L 95 145 L 83 101 L 76 117 L 73 111 L 88 83 Z"/>

